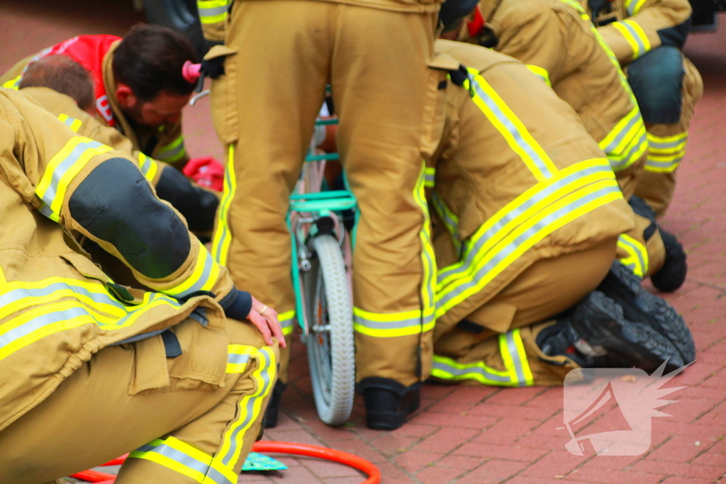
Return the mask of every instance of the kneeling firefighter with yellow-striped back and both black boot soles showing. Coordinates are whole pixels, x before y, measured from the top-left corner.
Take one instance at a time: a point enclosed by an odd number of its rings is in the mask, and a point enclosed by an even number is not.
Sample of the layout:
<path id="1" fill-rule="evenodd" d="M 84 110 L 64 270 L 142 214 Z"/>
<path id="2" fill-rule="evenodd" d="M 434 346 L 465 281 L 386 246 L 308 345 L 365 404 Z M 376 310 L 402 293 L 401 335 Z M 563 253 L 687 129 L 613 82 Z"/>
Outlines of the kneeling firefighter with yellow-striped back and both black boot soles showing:
<path id="1" fill-rule="evenodd" d="M 693 361 L 680 316 L 613 264 L 632 210 L 576 113 L 510 57 L 436 51 L 465 67 L 450 74 L 433 157 L 433 377 L 552 385 L 596 361 Z"/>

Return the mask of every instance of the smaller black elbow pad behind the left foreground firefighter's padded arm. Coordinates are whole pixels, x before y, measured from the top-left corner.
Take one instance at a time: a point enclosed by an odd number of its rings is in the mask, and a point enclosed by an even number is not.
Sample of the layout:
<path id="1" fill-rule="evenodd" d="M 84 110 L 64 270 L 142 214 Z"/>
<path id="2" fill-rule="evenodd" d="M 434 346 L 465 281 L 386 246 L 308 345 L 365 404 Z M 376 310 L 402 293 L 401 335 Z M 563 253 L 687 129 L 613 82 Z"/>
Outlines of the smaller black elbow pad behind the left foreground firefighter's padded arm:
<path id="1" fill-rule="evenodd" d="M 179 210 L 187 219 L 192 232 L 205 233 L 214 228 L 219 199 L 213 193 L 193 185 L 176 168 L 167 166 L 161 171 L 156 194 Z"/>

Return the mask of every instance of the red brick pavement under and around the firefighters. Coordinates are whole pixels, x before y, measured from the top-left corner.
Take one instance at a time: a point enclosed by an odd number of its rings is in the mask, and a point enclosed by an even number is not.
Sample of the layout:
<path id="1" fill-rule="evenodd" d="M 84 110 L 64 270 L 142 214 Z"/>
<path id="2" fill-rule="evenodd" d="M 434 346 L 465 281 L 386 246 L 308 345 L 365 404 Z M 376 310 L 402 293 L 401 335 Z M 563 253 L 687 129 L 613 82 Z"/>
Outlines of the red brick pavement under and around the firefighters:
<path id="1" fill-rule="evenodd" d="M 46 0 L 0 5 L 0 70 L 13 60 L 78 33 L 123 33 L 138 16 L 131 1 Z M 39 9 L 38 4 L 49 9 Z M 103 17 L 109 9 L 113 18 Z M 81 14 L 85 17 L 81 16 Z M 722 17 L 724 20 L 724 17 Z M 650 450 L 641 456 L 578 457 L 569 454 L 563 424 L 562 388 L 499 389 L 427 385 L 423 405 L 393 432 L 364 427 L 362 402 L 340 429 L 316 417 L 304 347 L 293 346 L 292 385 L 282 402 L 272 440 L 317 443 L 369 459 L 383 484 L 662 483 L 706 484 L 726 474 L 726 28 L 693 35 L 686 54 L 703 75 L 705 93 L 696 108 L 688 155 L 680 168 L 675 201 L 663 221 L 689 255 L 684 287 L 666 298 L 688 321 L 698 360 L 673 380 L 688 385 L 653 419 Z M 208 104 L 187 111 L 192 154 L 221 155 Z M 598 422 L 592 422 L 597 430 Z M 603 424 L 600 424 L 602 427 Z M 591 449 L 592 450 L 592 449 Z M 282 458 L 290 469 L 246 474 L 240 483 L 355 484 L 359 474 L 314 459 Z M 722 480 L 726 482 L 726 480 Z"/>

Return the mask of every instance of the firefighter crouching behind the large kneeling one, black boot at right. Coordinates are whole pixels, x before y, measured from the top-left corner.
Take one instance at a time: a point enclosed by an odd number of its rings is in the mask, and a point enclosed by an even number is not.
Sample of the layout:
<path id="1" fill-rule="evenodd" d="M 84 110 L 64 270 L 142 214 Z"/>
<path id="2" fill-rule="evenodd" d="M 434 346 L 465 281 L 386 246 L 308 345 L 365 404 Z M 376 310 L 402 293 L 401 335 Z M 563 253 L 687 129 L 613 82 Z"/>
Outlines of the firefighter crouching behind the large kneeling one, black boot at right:
<path id="1" fill-rule="evenodd" d="M 457 38 L 521 60 L 552 86 L 608 156 L 631 200 L 648 157 L 645 124 L 618 60 L 576 1 L 482 0 Z M 632 204 L 636 226 L 619 237 L 619 259 L 658 289 L 676 290 L 687 271 L 680 242 L 644 216 L 642 203 Z"/>

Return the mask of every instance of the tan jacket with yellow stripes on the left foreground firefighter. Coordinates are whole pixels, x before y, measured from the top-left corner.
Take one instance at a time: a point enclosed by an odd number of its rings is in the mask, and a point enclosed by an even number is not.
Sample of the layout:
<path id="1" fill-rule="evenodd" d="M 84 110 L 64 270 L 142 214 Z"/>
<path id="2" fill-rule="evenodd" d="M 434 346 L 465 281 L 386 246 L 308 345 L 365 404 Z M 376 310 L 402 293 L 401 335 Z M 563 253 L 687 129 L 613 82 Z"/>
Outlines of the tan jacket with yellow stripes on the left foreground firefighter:
<path id="1" fill-rule="evenodd" d="M 205 372 L 189 369 L 172 376 L 188 379 L 189 388 L 223 384 L 227 338 L 219 331 L 224 312 L 216 301 L 234 288 L 227 270 L 187 232 L 189 252 L 181 266 L 168 276 L 146 276 L 126 262 L 121 249 L 95 237 L 71 215 L 69 201 L 79 184 L 112 158 L 131 160 L 125 152 L 78 136 L 25 94 L 0 89 L 0 430 L 43 401 L 97 351 L 187 317 L 210 329 L 210 342 L 219 339 L 219 356 L 205 356 Z M 103 196 L 98 194 L 101 205 Z M 99 208 L 97 219 L 108 210 L 113 208 Z M 158 292 L 112 284 L 70 230 L 102 245 Z M 135 242 L 134 236 L 127 231 L 129 240 Z M 158 242 L 174 245 L 165 237 L 158 234 Z M 193 295 L 196 290 L 216 298 Z M 166 369 L 160 340 L 137 344 L 137 361 Z M 145 374 L 134 380 L 130 394 L 168 385 L 166 371 Z"/>

